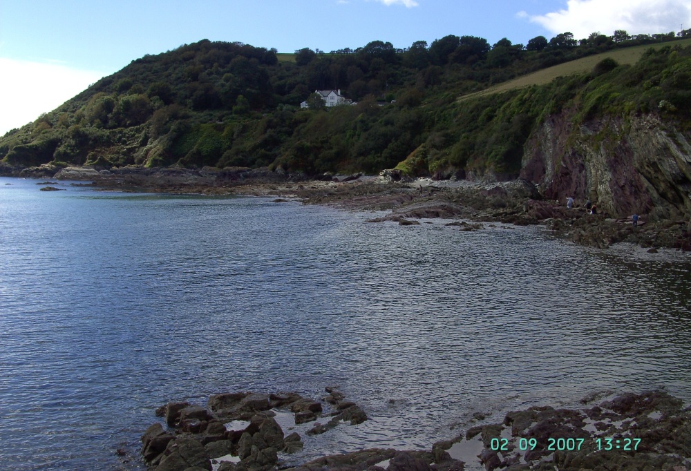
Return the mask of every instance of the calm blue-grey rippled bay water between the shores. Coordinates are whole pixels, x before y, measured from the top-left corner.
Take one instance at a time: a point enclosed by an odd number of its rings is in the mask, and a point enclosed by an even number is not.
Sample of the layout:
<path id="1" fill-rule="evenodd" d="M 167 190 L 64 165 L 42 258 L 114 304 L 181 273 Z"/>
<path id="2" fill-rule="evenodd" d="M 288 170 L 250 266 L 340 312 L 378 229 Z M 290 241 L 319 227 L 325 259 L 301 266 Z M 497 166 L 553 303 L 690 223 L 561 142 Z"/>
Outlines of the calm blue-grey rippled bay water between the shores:
<path id="1" fill-rule="evenodd" d="M 337 384 L 370 415 L 298 459 L 428 448 L 476 412 L 603 390 L 691 400 L 688 258 L 35 183 L 0 178 L 3 468 L 144 469 L 155 407 L 236 390 Z"/>

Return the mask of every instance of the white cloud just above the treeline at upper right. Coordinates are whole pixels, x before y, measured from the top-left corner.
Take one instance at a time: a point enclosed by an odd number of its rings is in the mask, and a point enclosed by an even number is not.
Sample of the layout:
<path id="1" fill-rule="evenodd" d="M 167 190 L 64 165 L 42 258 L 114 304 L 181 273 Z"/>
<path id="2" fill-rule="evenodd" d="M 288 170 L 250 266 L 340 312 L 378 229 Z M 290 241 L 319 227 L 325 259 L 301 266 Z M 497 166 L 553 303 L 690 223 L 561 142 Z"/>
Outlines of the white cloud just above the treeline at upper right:
<path id="1" fill-rule="evenodd" d="M 612 35 L 626 30 L 630 35 L 667 33 L 691 28 L 691 0 L 568 0 L 565 10 L 546 15 L 525 15 L 546 30 L 559 34 L 570 31 L 576 39 L 591 32 Z"/>

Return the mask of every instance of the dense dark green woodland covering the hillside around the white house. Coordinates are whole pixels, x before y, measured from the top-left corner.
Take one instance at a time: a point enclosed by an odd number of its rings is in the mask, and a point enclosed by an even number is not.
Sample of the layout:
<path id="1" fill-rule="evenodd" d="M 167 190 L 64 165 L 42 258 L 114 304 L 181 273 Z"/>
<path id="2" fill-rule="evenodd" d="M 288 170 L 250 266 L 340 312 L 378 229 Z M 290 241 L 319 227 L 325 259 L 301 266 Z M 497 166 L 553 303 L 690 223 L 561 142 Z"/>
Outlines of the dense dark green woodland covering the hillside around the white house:
<path id="1" fill-rule="evenodd" d="M 609 113 L 691 110 L 691 50 L 648 50 L 634 66 L 612 59 L 547 86 L 459 101 L 541 68 L 680 35 L 571 33 L 527 45 L 449 35 L 405 50 L 372 41 L 355 50 L 276 50 L 199 41 L 132 61 L 53 112 L 0 139 L 6 164 L 37 166 L 269 166 L 316 175 L 398 166 L 436 177 L 516 175 L 536 124 L 569 108 L 574 124 Z M 357 102 L 310 99 L 341 89 Z M 301 109 L 309 99 L 312 106 Z"/>

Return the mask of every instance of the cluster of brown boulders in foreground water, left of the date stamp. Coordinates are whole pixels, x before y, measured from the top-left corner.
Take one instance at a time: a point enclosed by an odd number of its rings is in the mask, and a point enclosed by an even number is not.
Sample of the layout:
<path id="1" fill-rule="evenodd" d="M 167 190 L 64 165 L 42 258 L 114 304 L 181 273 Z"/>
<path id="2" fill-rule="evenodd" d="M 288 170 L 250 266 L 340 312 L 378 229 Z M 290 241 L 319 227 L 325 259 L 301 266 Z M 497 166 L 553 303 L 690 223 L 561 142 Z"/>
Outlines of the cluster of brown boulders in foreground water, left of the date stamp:
<path id="1" fill-rule="evenodd" d="M 274 410 L 290 410 L 296 424 L 328 417 L 330 426 L 323 432 L 345 421 L 357 425 L 367 420 L 365 412 L 345 401 L 335 387 L 327 392 L 327 405 L 294 392 L 214 394 L 207 407 L 168 403 L 156 410 L 168 429 L 160 423 L 151 425 L 142 436 L 142 455 L 155 471 L 211 470 L 211 459 L 227 455 L 236 456 L 239 463 L 225 462 L 223 469 L 273 469 L 279 452 L 296 453 L 304 447 L 296 432 L 284 436 Z"/>

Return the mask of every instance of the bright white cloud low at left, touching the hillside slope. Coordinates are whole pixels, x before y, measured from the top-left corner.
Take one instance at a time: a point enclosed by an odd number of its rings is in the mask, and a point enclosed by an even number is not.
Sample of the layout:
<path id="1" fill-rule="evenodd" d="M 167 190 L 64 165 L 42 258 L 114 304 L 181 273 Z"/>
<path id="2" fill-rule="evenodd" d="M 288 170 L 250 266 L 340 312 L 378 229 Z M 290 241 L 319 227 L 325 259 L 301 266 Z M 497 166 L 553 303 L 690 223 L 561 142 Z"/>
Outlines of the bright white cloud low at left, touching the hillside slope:
<path id="1" fill-rule="evenodd" d="M 0 57 L 0 136 L 54 110 L 104 75 Z"/>

